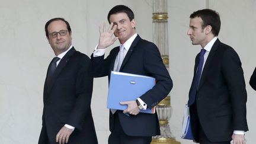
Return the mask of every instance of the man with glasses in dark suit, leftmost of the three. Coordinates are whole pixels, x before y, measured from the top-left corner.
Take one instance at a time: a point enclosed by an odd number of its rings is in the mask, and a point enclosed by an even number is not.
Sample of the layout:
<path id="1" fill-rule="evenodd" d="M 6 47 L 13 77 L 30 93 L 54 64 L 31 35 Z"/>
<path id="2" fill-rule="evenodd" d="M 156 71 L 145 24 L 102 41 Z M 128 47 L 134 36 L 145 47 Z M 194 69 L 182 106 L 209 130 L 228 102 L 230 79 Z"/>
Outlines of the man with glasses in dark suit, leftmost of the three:
<path id="1" fill-rule="evenodd" d="M 91 61 L 72 46 L 68 21 L 53 18 L 45 31 L 56 57 L 44 83 L 39 143 L 98 143 L 91 114 Z"/>

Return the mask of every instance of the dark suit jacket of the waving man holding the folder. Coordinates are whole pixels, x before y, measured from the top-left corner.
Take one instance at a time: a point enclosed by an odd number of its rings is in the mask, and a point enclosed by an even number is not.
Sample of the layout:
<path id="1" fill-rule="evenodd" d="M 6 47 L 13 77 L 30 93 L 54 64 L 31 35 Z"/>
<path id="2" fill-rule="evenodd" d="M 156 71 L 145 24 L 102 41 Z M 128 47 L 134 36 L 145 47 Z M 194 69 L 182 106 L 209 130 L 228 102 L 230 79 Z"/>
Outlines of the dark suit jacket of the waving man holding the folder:
<path id="1" fill-rule="evenodd" d="M 111 50 L 110 55 L 93 57 L 92 69 L 94 77 L 110 76 L 114 62 L 119 53 L 119 47 Z M 120 72 L 147 75 L 156 78 L 156 85 L 151 90 L 141 95 L 148 108 L 152 108 L 164 99 L 172 88 L 172 80 L 162 62 L 161 55 L 155 44 L 141 39 L 139 36 L 133 41 L 129 52 L 124 57 Z M 116 112 L 119 116 L 124 133 L 129 136 L 155 136 L 160 135 L 157 114 L 139 113 L 136 116 L 126 116 L 123 111 Z M 110 112 L 110 131 L 114 129 L 114 117 Z"/>

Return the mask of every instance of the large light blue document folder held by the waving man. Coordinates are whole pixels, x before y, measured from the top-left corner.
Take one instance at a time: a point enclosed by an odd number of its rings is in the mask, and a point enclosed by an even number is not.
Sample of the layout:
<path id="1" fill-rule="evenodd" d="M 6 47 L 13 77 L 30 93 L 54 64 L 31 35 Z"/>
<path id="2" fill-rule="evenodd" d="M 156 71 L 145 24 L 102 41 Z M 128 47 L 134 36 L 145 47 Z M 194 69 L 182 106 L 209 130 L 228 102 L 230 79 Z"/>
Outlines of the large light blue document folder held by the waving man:
<path id="1" fill-rule="evenodd" d="M 110 85 L 108 89 L 107 108 L 126 110 L 127 105 L 121 105 L 121 101 L 135 101 L 155 85 L 155 78 L 132 73 L 111 71 Z M 155 113 L 152 109 L 140 110 L 140 113 Z"/>

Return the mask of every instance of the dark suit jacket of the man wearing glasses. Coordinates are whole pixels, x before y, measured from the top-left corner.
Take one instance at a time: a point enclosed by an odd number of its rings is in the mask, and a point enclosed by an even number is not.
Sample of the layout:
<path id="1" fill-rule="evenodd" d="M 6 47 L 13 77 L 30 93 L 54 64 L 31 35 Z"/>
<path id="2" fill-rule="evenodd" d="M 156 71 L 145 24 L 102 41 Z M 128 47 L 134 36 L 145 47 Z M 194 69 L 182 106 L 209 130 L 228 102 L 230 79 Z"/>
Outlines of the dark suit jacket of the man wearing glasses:
<path id="1" fill-rule="evenodd" d="M 93 78 L 89 57 L 73 47 L 60 60 L 53 78 L 44 84 L 43 127 L 39 143 L 56 143 L 59 130 L 69 124 L 75 130 L 69 143 L 98 143 L 91 114 Z M 47 79 L 47 78 L 46 78 Z"/>

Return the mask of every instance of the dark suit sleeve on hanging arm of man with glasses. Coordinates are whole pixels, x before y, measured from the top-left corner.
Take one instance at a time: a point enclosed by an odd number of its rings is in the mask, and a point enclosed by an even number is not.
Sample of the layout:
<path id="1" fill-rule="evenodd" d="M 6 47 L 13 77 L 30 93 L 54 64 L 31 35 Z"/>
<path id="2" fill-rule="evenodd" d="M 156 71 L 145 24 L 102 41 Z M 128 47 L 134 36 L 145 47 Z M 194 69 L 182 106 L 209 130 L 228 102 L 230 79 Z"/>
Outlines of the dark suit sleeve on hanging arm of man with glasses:
<path id="1" fill-rule="evenodd" d="M 89 57 L 82 57 L 79 61 L 81 61 L 81 65 L 79 65 L 75 82 L 76 100 L 67 124 L 82 130 L 84 117 L 91 110 L 93 78 L 90 72 Z"/>

